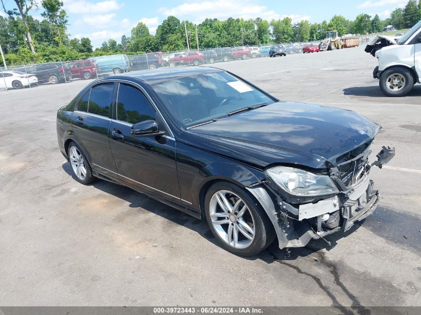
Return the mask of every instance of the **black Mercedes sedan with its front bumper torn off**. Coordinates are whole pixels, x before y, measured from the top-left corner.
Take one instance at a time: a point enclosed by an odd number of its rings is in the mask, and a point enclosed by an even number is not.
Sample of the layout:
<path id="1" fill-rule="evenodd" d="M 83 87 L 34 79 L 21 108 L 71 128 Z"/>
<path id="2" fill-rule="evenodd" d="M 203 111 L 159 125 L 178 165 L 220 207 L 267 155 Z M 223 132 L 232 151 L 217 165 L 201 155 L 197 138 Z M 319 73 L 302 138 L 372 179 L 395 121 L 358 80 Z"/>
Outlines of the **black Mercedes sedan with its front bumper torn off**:
<path id="1" fill-rule="evenodd" d="M 369 164 L 380 125 L 356 112 L 280 102 L 223 70 L 111 76 L 58 110 L 74 178 L 128 186 L 197 218 L 227 250 L 305 246 L 374 211 Z"/>

